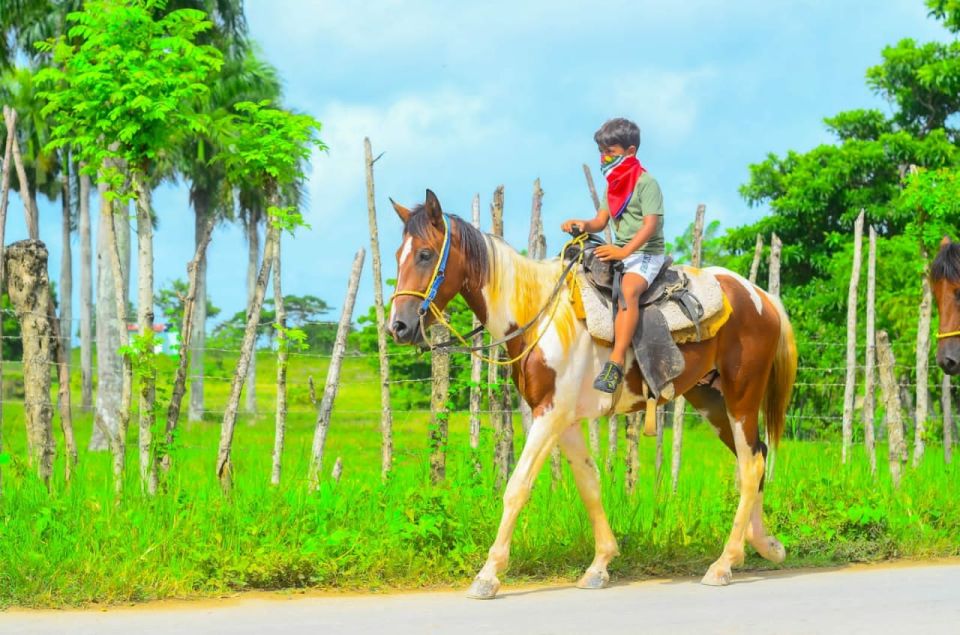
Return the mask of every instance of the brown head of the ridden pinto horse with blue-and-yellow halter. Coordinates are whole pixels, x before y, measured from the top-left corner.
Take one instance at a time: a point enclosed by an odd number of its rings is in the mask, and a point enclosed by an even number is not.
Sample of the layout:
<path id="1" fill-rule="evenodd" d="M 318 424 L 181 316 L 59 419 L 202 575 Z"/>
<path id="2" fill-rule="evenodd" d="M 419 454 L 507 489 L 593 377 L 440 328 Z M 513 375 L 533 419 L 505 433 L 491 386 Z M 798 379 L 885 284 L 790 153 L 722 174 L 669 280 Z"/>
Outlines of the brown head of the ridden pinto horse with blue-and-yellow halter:
<path id="1" fill-rule="evenodd" d="M 398 344 L 418 344 L 424 341 L 422 329 L 435 320 L 431 303 L 443 311 L 461 291 L 482 288 L 489 270 L 487 243 L 473 226 L 444 214 L 430 190 L 413 209 L 390 202 L 403 221 L 403 240 L 387 329 Z"/>

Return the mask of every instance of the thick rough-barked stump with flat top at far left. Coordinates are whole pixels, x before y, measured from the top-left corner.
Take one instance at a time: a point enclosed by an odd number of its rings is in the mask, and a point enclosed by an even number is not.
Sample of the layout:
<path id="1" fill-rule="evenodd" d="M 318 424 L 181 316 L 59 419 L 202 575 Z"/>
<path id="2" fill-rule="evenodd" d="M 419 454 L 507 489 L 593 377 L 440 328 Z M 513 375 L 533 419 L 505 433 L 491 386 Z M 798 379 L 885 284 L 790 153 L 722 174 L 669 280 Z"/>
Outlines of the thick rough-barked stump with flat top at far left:
<path id="1" fill-rule="evenodd" d="M 55 333 L 48 318 L 47 248 L 39 240 L 22 240 L 6 249 L 4 262 L 7 291 L 23 336 L 23 400 L 30 462 L 49 488 L 55 454 L 50 404 L 50 343 Z"/>

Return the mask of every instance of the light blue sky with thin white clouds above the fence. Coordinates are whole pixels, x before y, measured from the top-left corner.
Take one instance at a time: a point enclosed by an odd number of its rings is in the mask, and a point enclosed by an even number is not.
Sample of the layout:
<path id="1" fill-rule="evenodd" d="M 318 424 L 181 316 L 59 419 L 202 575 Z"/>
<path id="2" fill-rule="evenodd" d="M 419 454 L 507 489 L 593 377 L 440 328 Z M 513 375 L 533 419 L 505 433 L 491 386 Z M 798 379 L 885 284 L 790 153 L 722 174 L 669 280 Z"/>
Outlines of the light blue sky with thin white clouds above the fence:
<path id="1" fill-rule="evenodd" d="M 465 216 L 479 193 L 487 227 L 491 194 L 505 185 L 506 237 L 519 248 L 539 177 L 548 252 L 558 249 L 561 221 L 592 212 L 581 166 L 599 176 L 593 132 L 614 116 L 641 127 L 639 156 L 663 188 L 670 240 L 698 203 L 724 227 L 763 215 L 737 193 L 750 163 L 830 141 L 822 119 L 841 110 L 889 111 L 867 88 L 867 67 L 903 37 L 947 37 L 922 0 L 247 0 L 247 16 L 288 104 L 324 125 L 311 229 L 287 240 L 283 274 L 287 293 L 336 307 L 332 320 L 353 254 L 369 250 L 364 136 L 385 153 L 376 164 L 385 277 L 400 238 L 387 197 L 414 204 L 426 188 Z M 155 207 L 159 286 L 185 277 L 193 220 L 182 186 L 159 190 Z M 8 244 L 26 235 L 21 210 L 14 198 Z M 58 204 L 41 201 L 40 213 L 55 279 Z M 73 246 L 78 275 L 76 235 Z M 245 302 L 245 254 L 239 228 L 217 229 L 208 293 L 227 315 Z M 357 313 L 372 301 L 368 258 Z"/>

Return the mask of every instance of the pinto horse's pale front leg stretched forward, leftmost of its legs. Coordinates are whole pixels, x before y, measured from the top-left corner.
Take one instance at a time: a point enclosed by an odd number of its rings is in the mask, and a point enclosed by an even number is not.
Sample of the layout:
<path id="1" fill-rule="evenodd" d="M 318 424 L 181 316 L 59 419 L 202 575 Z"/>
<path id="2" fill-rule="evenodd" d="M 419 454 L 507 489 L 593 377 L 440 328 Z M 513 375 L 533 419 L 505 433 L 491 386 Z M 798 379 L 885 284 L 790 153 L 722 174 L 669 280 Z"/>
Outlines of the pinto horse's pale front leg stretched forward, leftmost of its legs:
<path id="1" fill-rule="evenodd" d="M 510 559 L 510 539 L 517 522 L 520 510 L 530 498 L 533 483 L 543 466 L 543 462 L 550 451 L 557 444 L 560 433 L 569 425 L 569 421 L 561 418 L 556 410 L 538 413 L 534 410 L 533 425 L 530 436 L 523 446 L 520 460 L 507 482 L 507 489 L 503 493 L 503 516 L 500 518 L 500 528 L 497 530 L 497 539 L 487 554 L 487 561 L 474 578 L 467 597 L 478 600 L 491 600 L 497 595 L 500 588 L 498 573 L 507 568 Z"/>

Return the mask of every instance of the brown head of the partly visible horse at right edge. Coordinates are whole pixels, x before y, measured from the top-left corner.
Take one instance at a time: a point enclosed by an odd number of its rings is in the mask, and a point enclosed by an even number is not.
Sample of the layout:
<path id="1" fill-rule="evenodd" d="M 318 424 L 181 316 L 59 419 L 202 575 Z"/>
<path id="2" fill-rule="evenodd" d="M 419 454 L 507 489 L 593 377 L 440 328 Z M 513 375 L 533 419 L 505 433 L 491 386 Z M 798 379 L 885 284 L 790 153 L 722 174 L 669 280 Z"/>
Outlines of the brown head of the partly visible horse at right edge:
<path id="1" fill-rule="evenodd" d="M 937 364 L 948 375 L 960 374 L 960 243 L 944 236 L 930 267 L 930 284 L 940 311 Z"/>

